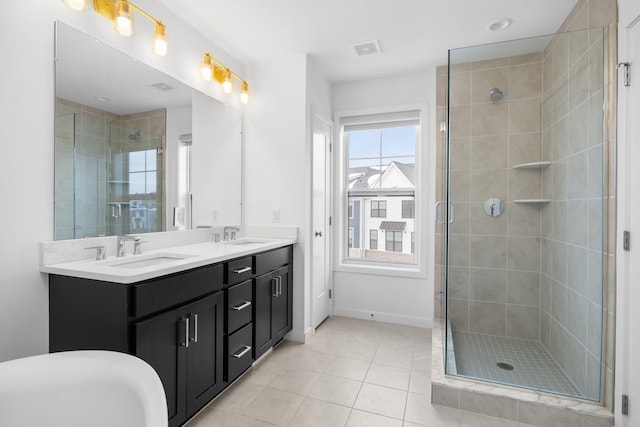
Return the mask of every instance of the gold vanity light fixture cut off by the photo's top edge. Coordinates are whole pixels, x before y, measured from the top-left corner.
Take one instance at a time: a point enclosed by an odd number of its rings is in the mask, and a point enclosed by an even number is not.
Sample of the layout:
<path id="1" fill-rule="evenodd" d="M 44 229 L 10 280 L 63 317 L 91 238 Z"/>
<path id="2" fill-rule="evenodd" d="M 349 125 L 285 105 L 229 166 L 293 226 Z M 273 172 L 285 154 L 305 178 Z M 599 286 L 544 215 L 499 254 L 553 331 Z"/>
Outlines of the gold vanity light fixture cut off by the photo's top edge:
<path id="1" fill-rule="evenodd" d="M 88 0 L 64 0 L 64 3 L 74 10 L 84 10 Z M 131 3 L 129 0 L 93 0 L 93 9 L 113 22 L 113 28 L 125 37 L 134 32 L 133 12 L 136 11 L 154 24 L 156 31 L 153 37 L 153 52 L 158 56 L 167 54 L 167 29 L 159 19 Z"/>

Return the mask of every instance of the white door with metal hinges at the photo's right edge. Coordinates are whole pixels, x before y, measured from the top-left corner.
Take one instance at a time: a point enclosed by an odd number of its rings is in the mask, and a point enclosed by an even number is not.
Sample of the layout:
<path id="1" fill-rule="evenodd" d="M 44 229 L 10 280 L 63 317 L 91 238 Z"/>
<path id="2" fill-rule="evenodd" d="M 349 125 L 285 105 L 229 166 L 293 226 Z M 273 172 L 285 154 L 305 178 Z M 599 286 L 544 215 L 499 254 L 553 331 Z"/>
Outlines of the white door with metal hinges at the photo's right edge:
<path id="1" fill-rule="evenodd" d="M 624 86 L 624 73 L 618 74 L 620 89 L 623 140 L 619 154 L 620 184 L 626 188 L 621 196 L 620 214 L 618 215 L 618 238 L 622 240 L 622 232 L 631 232 L 629 251 L 618 244 L 619 272 L 617 277 L 618 293 L 618 360 L 616 363 L 616 425 L 640 425 L 640 340 L 637 325 L 640 324 L 640 16 L 626 28 L 623 34 L 626 39 L 626 52 L 621 50 L 620 56 L 630 64 L 630 86 Z M 627 203 L 624 203 L 624 200 Z M 621 250 L 622 249 L 622 250 Z M 629 396 L 628 415 L 622 414 L 622 395 Z"/>

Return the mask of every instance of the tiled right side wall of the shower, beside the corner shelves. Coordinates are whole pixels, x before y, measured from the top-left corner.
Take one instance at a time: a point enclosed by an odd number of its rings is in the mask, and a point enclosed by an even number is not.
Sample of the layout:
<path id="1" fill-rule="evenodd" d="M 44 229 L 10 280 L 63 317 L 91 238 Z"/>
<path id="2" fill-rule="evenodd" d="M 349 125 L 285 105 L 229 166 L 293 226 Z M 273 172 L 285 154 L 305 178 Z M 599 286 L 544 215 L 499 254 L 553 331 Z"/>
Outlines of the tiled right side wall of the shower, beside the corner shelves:
<path id="1" fill-rule="evenodd" d="M 560 28 L 570 33 L 554 38 L 543 63 L 543 152 L 553 166 L 543 176 L 543 195 L 552 203 L 542 215 L 541 341 L 588 398 L 597 399 L 602 387 L 609 407 L 615 320 L 615 129 L 609 125 L 615 123 L 615 23 L 615 1 L 579 1 Z M 600 372 L 606 373 L 604 387 Z"/>

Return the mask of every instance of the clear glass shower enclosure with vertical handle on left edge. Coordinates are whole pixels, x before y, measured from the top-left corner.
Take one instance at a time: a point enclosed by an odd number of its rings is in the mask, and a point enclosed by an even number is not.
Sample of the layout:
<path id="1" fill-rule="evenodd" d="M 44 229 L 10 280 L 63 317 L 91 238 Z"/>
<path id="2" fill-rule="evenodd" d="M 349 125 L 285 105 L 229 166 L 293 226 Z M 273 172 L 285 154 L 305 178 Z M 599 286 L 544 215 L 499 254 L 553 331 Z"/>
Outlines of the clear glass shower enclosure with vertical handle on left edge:
<path id="1" fill-rule="evenodd" d="M 602 30 L 449 52 L 449 375 L 601 400 L 604 57 Z"/>

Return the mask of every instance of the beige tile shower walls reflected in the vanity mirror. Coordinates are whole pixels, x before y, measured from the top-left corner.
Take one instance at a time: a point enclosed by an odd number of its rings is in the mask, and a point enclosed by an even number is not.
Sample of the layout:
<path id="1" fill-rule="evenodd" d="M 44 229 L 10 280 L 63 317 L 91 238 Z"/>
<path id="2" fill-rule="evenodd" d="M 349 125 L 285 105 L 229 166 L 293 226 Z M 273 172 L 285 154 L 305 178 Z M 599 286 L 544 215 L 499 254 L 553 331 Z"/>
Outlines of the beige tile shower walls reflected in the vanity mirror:
<path id="1" fill-rule="evenodd" d="M 109 229 L 107 201 L 115 191 L 109 181 L 116 180 L 107 172 L 111 153 L 129 151 L 131 146 L 156 148 L 158 138 L 164 148 L 165 128 L 165 109 L 119 116 L 56 98 L 56 239 L 119 234 L 117 219 L 111 224 L 116 229 Z M 128 135 L 132 129 L 140 130 L 141 138 L 131 140 Z M 160 167 L 158 180 L 164 173 L 164 162 Z M 157 212 L 162 225 L 164 207 L 158 206 Z M 123 225 L 120 229 L 126 230 Z"/>

